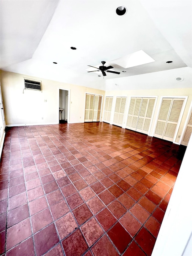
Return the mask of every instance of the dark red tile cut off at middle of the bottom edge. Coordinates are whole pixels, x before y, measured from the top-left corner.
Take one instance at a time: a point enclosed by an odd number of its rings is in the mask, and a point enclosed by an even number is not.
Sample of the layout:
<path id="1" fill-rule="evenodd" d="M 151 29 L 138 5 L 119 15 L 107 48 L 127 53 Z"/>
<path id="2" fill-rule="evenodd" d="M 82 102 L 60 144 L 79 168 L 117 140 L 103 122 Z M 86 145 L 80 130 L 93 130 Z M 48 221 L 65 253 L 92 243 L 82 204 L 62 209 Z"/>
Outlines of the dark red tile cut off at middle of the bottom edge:
<path id="1" fill-rule="evenodd" d="M 92 248 L 94 256 L 106 255 L 106 256 L 118 256 L 118 252 L 113 247 L 109 238 L 105 235 L 103 236 Z"/>

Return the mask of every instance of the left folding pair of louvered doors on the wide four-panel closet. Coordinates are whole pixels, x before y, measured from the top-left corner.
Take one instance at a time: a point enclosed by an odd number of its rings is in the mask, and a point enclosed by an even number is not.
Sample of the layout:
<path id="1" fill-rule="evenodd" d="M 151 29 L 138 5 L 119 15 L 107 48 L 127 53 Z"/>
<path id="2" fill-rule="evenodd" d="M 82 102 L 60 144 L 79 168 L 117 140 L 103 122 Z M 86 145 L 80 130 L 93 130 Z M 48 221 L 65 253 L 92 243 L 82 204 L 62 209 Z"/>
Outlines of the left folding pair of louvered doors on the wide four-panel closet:
<path id="1" fill-rule="evenodd" d="M 142 98 L 131 98 L 126 128 L 136 131 Z"/>

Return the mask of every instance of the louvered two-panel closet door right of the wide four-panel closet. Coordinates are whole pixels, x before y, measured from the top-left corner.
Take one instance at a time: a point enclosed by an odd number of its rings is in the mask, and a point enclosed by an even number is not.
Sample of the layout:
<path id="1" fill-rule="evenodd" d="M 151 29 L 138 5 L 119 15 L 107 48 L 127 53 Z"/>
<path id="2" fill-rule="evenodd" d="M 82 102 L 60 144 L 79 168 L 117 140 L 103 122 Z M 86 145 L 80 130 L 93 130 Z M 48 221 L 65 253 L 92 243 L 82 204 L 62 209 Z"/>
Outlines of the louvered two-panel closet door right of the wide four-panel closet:
<path id="1" fill-rule="evenodd" d="M 155 137 L 173 141 L 184 99 L 163 98 Z"/>

